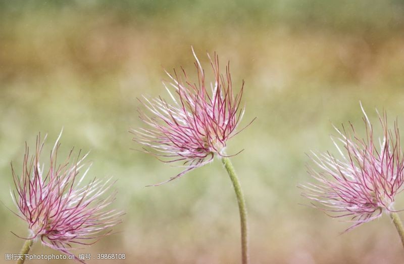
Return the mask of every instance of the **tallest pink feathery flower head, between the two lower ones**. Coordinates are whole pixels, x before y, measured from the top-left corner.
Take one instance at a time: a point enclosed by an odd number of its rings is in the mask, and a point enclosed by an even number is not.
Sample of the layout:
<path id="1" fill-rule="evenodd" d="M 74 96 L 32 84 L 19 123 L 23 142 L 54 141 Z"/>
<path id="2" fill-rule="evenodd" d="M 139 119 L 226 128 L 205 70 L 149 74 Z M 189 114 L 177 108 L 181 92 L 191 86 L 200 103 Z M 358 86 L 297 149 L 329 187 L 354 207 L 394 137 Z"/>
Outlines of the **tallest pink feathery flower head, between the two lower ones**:
<path id="1" fill-rule="evenodd" d="M 226 142 L 239 132 L 236 128 L 244 114 L 244 108 L 240 106 L 244 81 L 240 92 L 234 95 L 229 64 L 225 75 L 221 74 L 215 53 L 214 60 L 208 54 L 214 81 L 207 83 L 205 71 L 193 49 L 192 53 L 197 79 L 190 80 L 182 68 L 181 77 L 175 70 L 174 74 L 166 71 L 171 81 L 163 82 L 163 85 L 171 102 L 161 97 L 148 99 L 143 96 L 139 101 L 149 114 L 139 110 L 139 117 L 148 127 L 131 130 L 135 135 L 133 140 L 145 146 L 147 153 L 151 153 L 147 150 L 151 148 L 153 155 L 167 159 L 164 162 L 183 162 L 186 169 L 163 183 L 211 162 L 215 155 L 225 156 Z"/>

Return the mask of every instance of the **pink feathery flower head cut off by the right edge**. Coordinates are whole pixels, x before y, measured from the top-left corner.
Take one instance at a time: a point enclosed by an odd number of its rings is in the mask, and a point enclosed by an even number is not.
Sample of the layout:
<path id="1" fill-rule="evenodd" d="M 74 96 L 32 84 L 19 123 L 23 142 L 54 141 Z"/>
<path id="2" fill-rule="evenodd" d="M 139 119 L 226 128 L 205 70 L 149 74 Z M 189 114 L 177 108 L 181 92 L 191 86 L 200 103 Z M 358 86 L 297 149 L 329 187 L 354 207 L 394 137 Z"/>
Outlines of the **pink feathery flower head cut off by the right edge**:
<path id="1" fill-rule="evenodd" d="M 338 130 L 333 140 L 340 157 L 330 153 L 315 154 L 312 159 L 318 169 L 309 167 L 316 184 L 302 186 L 303 195 L 320 203 L 332 217 L 350 217 L 354 223 L 346 231 L 380 217 L 383 212 L 394 212 L 394 197 L 402 190 L 404 159 L 400 148 L 397 122 L 387 128 L 387 116 L 379 115 L 383 138 L 374 138 L 373 126 L 363 107 L 366 137 L 360 137 L 352 124 L 347 132 Z M 341 147 L 342 145 L 342 147 Z M 329 213 L 328 213 L 329 212 Z"/>

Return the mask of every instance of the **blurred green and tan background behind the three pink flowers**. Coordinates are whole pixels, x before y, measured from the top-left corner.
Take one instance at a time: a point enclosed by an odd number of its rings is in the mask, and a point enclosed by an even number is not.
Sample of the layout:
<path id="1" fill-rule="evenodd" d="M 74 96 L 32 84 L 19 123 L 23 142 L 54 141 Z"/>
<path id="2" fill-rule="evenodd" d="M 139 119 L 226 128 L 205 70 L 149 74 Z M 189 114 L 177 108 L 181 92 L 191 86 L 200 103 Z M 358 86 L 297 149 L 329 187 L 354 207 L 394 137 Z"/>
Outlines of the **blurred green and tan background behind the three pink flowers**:
<path id="1" fill-rule="evenodd" d="M 10 161 L 39 131 L 47 148 L 91 150 L 90 176 L 118 179 L 118 234 L 77 253 L 125 253 L 99 263 L 237 263 L 239 218 L 218 160 L 180 171 L 131 150 L 143 94 L 166 96 L 163 67 L 193 70 L 191 45 L 229 60 L 245 80 L 243 124 L 228 144 L 249 212 L 252 263 L 401 263 L 388 217 L 340 235 L 349 223 L 313 208 L 296 186 L 310 181 L 305 153 L 336 153 L 332 124 L 363 131 L 362 101 L 404 121 L 402 1 L 0 1 L 0 200 L 14 208 Z M 63 154 L 62 154 L 63 155 Z M 48 154 L 44 153 L 44 160 Z M 397 208 L 403 208 L 402 195 Z M 0 206 L 0 262 L 17 253 L 26 224 Z M 57 253 L 35 244 L 32 253 Z M 42 263 L 41 260 L 32 263 Z M 69 261 L 54 261 L 68 263 Z M 96 263 L 90 260 L 89 263 Z M 71 261 L 69 262 L 71 263 Z"/>

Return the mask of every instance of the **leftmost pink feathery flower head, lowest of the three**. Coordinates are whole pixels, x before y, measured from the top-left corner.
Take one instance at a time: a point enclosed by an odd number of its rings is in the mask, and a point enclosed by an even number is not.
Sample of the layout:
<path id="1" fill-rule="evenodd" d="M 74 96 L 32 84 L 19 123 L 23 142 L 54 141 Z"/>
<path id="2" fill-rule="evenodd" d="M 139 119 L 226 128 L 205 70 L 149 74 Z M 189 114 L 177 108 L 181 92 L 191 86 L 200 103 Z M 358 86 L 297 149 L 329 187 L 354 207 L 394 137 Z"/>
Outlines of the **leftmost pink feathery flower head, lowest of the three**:
<path id="1" fill-rule="evenodd" d="M 37 137 L 33 155 L 26 146 L 20 177 L 12 165 L 16 190 L 11 194 L 19 209 L 15 214 L 29 225 L 30 237 L 24 239 L 40 239 L 43 245 L 72 255 L 74 246 L 91 245 L 110 234 L 123 213 L 106 208 L 116 193 L 102 198 L 113 185 L 111 179 L 94 178 L 82 185 L 90 167 L 83 164 L 88 153 L 73 158 L 72 150 L 64 162 L 57 161 L 61 135 L 46 165 L 40 157 L 46 136 L 43 141 Z"/>

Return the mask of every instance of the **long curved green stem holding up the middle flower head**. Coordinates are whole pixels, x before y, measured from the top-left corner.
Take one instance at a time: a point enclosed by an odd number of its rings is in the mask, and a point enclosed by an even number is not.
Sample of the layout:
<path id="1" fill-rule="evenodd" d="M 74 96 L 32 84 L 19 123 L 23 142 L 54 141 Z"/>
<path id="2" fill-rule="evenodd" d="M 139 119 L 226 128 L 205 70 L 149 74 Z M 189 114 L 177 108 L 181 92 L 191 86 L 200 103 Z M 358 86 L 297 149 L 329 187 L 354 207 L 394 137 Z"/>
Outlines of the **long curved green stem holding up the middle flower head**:
<path id="1" fill-rule="evenodd" d="M 234 191 L 237 196 L 238 210 L 240 212 L 240 225 L 241 225 L 241 257 L 242 264 L 248 263 L 248 234 L 247 234 L 247 210 L 245 207 L 244 196 L 241 191 L 240 183 L 237 179 L 236 172 L 229 158 L 221 158 L 224 167 L 229 173 L 231 182 L 233 183 Z"/>

